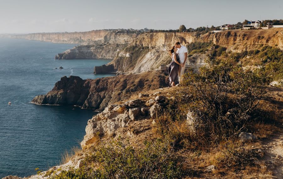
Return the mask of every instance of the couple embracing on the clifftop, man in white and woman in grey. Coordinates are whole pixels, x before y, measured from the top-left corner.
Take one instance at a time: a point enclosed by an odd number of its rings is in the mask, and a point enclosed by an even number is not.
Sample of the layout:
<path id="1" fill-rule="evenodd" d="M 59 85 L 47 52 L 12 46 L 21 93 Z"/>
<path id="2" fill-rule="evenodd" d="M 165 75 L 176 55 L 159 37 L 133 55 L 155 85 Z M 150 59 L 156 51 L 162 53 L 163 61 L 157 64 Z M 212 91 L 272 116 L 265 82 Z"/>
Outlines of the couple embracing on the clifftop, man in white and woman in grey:
<path id="1" fill-rule="evenodd" d="M 169 65 L 169 80 L 170 86 L 175 86 L 177 76 L 179 77 L 179 83 L 184 75 L 186 60 L 188 56 L 188 49 L 186 46 L 180 45 L 180 42 L 176 42 L 175 45 L 169 50 L 172 62 Z"/>

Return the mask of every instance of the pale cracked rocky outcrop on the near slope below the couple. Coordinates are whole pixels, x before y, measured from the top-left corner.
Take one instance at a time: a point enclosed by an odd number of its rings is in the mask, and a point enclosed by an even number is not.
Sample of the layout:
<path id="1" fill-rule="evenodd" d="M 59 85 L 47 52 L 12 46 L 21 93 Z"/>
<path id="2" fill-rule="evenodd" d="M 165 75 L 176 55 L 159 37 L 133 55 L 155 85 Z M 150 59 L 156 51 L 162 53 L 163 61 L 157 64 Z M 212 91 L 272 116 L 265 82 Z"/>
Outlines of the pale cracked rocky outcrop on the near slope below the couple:
<path id="1" fill-rule="evenodd" d="M 137 98 L 123 104 L 108 105 L 103 112 L 88 120 L 86 135 L 81 142 L 82 148 L 95 143 L 98 137 L 115 136 L 119 128 L 129 126 L 134 121 L 146 120 L 161 114 L 166 98 L 164 96 L 152 96 L 151 98 L 154 101 L 152 104 Z"/>

